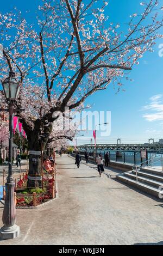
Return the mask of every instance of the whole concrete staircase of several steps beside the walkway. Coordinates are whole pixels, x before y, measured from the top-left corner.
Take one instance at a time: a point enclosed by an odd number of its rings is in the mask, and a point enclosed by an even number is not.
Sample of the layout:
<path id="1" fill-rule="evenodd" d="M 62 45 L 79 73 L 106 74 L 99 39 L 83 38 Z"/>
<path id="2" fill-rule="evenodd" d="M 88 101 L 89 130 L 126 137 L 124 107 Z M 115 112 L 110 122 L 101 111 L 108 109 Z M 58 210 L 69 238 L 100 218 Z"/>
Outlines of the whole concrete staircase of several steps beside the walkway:
<path id="1" fill-rule="evenodd" d="M 137 177 L 138 182 L 135 170 L 116 175 L 116 179 L 163 200 L 163 172 L 151 167 L 142 167 L 137 171 Z"/>

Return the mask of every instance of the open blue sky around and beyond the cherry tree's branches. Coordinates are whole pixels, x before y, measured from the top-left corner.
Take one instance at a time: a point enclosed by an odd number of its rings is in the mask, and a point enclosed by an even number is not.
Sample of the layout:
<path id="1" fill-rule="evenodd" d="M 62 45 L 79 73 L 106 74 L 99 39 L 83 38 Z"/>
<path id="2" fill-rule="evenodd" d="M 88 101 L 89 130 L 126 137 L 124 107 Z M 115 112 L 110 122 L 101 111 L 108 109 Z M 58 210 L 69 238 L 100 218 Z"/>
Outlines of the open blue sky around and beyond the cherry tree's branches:
<path id="1" fill-rule="evenodd" d="M 33 20 L 38 2 L 5 0 L 1 3 L 1 10 L 9 11 L 14 6 L 20 9 L 22 14 L 30 10 L 28 16 Z M 107 7 L 109 22 L 113 21 L 121 25 L 127 23 L 130 14 L 142 11 L 140 2 L 140 0 L 110 0 Z M 163 5 L 163 1 L 160 2 Z M 162 14 L 163 11 L 160 15 Z M 92 105 L 92 111 L 111 111 L 111 134 L 101 137 L 99 131 L 97 142 L 116 143 L 117 138 L 121 138 L 122 143 L 144 143 L 151 137 L 155 141 L 163 138 L 163 57 L 159 57 L 160 44 L 163 44 L 163 39 L 156 41 L 153 53 L 146 53 L 140 59 L 140 64 L 134 66 L 130 73 L 130 78 L 134 82 L 123 81 L 125 84 L 123 89 L 126 92 L 116 94 L 117 89 L 114 90 L 110 84 L 105 92 L 97 92 L 87 99 L 86 103 Z M 155 95 L 159 96 L 154 97 Z M 79 144 L 90 142 L 92 131 L 84 134 L 85 137 L 79 138 Z"/>

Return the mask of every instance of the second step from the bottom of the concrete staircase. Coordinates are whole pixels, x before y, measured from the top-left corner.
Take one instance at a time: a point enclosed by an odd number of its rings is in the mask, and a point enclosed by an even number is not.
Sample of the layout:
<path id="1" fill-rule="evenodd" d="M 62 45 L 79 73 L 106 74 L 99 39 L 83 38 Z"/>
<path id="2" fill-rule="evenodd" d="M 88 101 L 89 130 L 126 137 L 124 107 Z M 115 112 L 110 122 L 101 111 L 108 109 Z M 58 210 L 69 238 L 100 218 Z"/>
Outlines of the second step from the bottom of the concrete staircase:
<path id="1" fill-rule="evenodd" d="M 136 180 L 136 174 L 133 174 L 131 172 L 124 173 L 124 176 L 127 176 L 131 179 Z M 145 177 L 139 176 L 139 175 L 137 175 L 137 178 L 138 178 L 138 181 L 140 181 L 142 183 L 151 185 L 151 186 L 156 187 L 156 188 L 159 188 L 160 186 L 162 186 L 162 188 L 163 188 L 163 182 L 161 182 L 161 181 L 152 180 L 152 179 L 145 178 Z"/>

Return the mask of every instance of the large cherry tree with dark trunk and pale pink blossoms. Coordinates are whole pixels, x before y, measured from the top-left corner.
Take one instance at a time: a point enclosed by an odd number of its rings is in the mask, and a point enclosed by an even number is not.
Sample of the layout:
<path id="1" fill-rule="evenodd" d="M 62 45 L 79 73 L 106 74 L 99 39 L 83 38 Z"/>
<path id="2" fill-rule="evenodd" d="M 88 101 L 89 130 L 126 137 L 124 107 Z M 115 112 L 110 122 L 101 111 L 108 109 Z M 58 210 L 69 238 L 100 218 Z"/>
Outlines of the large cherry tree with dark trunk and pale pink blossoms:
<path id="1" fill-rule="evenodd" d="M 52 124 L 59 113 L 65 114 L 65 107 L 80 108 L 88 96 L 109 84 L 121 90 L 122 78 L 129 80 L 129 71 L 162 38 L 160 3 L 140 4 L 141 13 L 130 15 L 126 31 L 110 22 L 108 1 L 102 0 L 43 0 L 37 25 L 17 10 L 0 14 L 1 78 L 13 69 L 22 84 L 17 107 L 26 109 L 20 119 L 30 150 L 28 186 L 35 186 L 32 175 L 40 173 L 40 130 L 45 148 Z"/>

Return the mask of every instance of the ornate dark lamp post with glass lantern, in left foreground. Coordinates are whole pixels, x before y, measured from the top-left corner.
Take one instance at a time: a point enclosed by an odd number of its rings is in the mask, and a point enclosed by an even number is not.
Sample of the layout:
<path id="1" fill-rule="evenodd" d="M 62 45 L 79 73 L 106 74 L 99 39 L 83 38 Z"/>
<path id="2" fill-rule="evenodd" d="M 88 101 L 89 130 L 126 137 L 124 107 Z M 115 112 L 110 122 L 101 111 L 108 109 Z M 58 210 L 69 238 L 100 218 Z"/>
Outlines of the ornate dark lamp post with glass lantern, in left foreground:
<path id="1" fill-rule="evenodd" d="M 6 187 L 6 197 L 3 210 L 3 227 L 0 230 L 1 239 L 13 239 L 17 237 L 20 233 L 20 227 L 16 223 L 16 208 L 14 201 L 14 187 L 15 182 L 12 176 L 12 137 L 13 137 L 13 113 L 18 111 L 23 111 L 24 109 L 14 109 L 15 103 L 17 101 L 18 94 L 20 93 L 20 83 L 17 82 L 15 78 L 15 73 L 11 70 L 9 72 L 9 77 L 2 82 L 5 98 L 8 104 L 8 109 L 3 109 L 3 111 L 9 112 L 9 170 Z M 2 109 L 0 109 L 2 110 Z"/>

